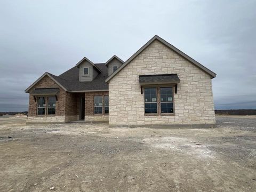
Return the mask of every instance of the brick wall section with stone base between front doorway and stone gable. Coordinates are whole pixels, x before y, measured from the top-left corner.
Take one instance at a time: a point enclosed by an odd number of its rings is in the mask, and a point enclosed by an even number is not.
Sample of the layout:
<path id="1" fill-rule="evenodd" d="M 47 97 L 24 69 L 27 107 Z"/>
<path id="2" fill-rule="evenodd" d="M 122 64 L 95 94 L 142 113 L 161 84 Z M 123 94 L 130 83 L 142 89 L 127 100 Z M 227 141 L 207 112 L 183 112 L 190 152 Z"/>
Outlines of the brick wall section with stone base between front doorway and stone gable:
<path id="1" fill-rule="evenodd" d="M 94 96 L 108 95 L 108 91 L 85 92 L 85 122 L 107 122 L 108 115 L 94 115 Z"/>

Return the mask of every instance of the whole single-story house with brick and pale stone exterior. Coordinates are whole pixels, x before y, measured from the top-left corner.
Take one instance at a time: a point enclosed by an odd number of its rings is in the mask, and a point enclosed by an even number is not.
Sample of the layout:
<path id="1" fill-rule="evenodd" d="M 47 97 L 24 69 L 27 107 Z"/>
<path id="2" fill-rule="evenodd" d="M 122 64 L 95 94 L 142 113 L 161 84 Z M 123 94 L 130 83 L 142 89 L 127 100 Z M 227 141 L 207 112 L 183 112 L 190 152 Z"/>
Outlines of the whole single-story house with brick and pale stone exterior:
<path id="1" fill-rule="evenodd" d="M 155 35 L 125 62 L 84 57 L 59 76 L 43 74 L 25 91 L 27 122 L 213 126 L 215 76 Z"/>

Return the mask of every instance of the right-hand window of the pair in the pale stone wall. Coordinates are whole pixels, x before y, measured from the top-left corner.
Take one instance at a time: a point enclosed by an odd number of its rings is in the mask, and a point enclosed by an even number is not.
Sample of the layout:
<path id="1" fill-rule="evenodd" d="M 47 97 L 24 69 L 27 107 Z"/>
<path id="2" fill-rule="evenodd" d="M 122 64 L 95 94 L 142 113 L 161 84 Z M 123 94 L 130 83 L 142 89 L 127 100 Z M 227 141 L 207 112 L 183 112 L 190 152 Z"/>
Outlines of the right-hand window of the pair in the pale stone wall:
<path id="1" fill-rule="evenodd" d="M 172 87 L 161 87 L 161 113 L 173 113 Z"/>

